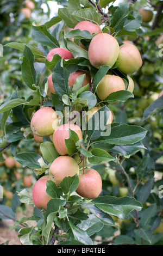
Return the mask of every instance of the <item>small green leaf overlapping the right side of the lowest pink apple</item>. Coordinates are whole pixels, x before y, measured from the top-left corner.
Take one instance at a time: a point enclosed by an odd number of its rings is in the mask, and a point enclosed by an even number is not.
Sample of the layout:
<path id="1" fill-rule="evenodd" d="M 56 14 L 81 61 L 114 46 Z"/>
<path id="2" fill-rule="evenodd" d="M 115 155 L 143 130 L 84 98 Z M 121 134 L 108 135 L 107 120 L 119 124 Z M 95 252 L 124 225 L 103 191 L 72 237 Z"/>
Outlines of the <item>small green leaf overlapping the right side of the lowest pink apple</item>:
<path id="1" fill-rule="evenodd" d="M 52 180 L 46 181 L 46 192 L 52 198 L 60 198 L 62 196 L 62 190 Z"/>

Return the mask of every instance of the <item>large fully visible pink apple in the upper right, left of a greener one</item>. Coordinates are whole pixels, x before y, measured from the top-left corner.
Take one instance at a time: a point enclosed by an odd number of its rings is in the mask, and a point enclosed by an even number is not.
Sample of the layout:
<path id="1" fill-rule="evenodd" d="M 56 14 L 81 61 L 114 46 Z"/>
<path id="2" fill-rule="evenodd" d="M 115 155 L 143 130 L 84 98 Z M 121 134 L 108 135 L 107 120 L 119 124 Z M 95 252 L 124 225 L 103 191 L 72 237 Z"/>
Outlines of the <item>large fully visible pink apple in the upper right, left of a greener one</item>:
<path id="1" fill-rule="evenodd" d="M 112 67 L 120 52 L 118 41 L 107 33 L 99 33 L 95 35 L 89 45 L 90 63 L 99 69 L 102 65 Z"/>

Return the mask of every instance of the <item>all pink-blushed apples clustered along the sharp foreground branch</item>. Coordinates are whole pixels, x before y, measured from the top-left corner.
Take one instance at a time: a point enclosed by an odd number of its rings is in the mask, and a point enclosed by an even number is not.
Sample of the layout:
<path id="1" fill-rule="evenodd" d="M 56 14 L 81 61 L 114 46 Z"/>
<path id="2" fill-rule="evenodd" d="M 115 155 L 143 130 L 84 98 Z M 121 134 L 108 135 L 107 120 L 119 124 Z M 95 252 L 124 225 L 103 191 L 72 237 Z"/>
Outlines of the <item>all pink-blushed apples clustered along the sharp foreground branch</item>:
<path id="1" fill-rule="evenodd" d="M 88 51 L 89 61 L 92 66 L 100 69 L 102 65 L 109 65 L 110 68 L 118 63 L 118 69 L 124 74 L 131 75 L 137 71 L 142 65 L 142 59 L 139 50 L 133 44 L 124 43 L 119 46 L 118 41 L 110 34 L 103 33 L 101 28 L 90 21 L 79 22 L 74 29 L 87 30 L 91 34 L 95 34 L 90 41 L 89 47 L 80 43 L 80 47 Z M 73 40 L 73 38 L 71 38 Z M 51 62 L 58 54 L 65 60 L 74 58 L 73 54 L 66 48 L 54 48 L 47 54 L 47 60 Z M 76 57 L 76 56 L 75 56 Z M 91 84 L 92 78 L 88 71 L 79 69 L 72 72 L 68 78 L 68 86 L 73 87 L 78 76 L 85 74 L 85 80 L 82 87 L 88 83 Z M 134 82 L 128 76 L 128 90 L 132 93 L 134 90 Z M 101 82 L 99 82 L 96 94 L 99 100 L 103 101 L 106 97 L 118 90 L 126 90 L 126 85 L 123 79 L 119 76 L 106 74 Z M 51 93 L 55 93 L 53 86 L 52 74 L 48 76 L 48 91 L 47 96 L 51 97 Z M 101 106 L 95 106 L 86 114 L 86 122 L 95 114 Z M 111 124 L 113 120 L 112 112 L 106 124 Z M 69 129 L 77 133 L 78 138 L 83 138 L 83 133 L 80 127 L 76 124 L 60 125 L 57 112 L 51 107 L 41 107 L 37 110 L 31 119 L 30 125 L 35 141 L 43 142 L 42 137 L 50 136 L 55 149 L 59 153 L 59 157 L 53 161 L 49 168 L 49 175 L 42 176 L 36 181 L 33 187 L 34 204 L 39 209 L 46 209 L 47 202 L 51 199 L 46 193 L 46 181 L 52 180 L 57 186 L 66 176 L 79 176 L 79 186 L 77 193 L 88 199 L 93 199 L 99 196 L 102 191 L 102 179 L 95 169 L 80 170 L 80 164 L 77 155 L 73 157 L 68 155 L 65 139 L 69 138 Z M 83 163 L 82 163 L 83 164 Z"/>

